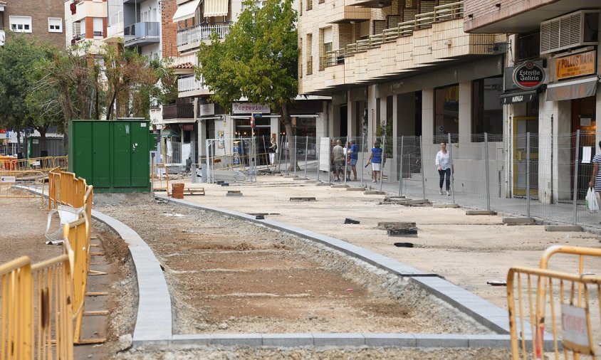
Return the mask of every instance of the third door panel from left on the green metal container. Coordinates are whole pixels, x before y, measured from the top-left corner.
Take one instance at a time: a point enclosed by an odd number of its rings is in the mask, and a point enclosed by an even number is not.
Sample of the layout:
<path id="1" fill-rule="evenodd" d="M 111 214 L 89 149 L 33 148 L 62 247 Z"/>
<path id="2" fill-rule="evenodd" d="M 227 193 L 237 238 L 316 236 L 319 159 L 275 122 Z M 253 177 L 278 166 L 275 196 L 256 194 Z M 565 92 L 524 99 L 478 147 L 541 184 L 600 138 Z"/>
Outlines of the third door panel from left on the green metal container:
<path id="1" fill-rule="evenodd" d="M 113 159 L 113 187 L 129 188 L 131 180 L 131 124 L 130 122 L 113 122 L 113 139 L 115 144 Z"/>

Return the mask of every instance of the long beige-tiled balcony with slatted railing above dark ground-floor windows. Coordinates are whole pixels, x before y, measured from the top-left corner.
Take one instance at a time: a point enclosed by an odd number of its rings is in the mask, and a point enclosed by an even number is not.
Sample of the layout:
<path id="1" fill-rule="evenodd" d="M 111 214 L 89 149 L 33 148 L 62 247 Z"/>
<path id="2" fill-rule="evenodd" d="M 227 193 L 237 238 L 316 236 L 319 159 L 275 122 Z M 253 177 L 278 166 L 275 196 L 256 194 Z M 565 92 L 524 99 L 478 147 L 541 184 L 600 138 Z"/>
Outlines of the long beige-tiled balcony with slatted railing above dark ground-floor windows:
<path id="1" fill-rule="evenodd" d="M 381 33 L 328 51 L 319 60 L 319 70 L 303 77 L 303 94 L 331 92 L 357 83 L 377 83 L 389 77 L 407 77 L 434 70 L 450 61 L 474 56 L 498 55 L 491 46 L 506 41 L 506 35 L 463 31 L 463 2 L 436 6 Z M 326 90 L 328 89 L 328 90 Z"/>

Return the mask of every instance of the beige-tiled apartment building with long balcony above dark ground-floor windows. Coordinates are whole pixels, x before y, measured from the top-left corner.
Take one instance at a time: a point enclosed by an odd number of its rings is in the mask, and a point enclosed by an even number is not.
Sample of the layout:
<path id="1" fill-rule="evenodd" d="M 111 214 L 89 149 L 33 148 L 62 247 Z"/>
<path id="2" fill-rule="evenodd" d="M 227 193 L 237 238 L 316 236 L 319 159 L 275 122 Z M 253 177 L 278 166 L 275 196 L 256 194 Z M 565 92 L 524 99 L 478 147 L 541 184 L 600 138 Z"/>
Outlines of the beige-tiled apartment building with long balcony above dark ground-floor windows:
<path id="1" fill-rule="evenodd" d="M 464 1 L 303 0 L 299 92 L 332 96 L 336 137 L 372 144 L 392 122 L 387 174 L 399 174 L 402 136 L 421 136 L 422 151 L 435 154 L 449 134 L 458 142 L 487 132 L 496 154 L 506 43 L 502 33 L 464 31 Z"/>

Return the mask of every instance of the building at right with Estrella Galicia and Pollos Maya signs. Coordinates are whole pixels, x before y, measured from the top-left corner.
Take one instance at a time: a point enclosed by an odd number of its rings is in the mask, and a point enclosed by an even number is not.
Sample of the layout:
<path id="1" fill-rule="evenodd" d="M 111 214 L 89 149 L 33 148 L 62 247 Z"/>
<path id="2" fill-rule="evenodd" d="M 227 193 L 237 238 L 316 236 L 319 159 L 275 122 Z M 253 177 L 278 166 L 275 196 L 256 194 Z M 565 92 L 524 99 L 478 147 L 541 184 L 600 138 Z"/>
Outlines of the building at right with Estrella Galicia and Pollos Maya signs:
<path id="1" fill-rule="evenodd" d="M 502 95 L 508 153 L 526 153 L 528 132 L 551 139 L 529 149 L 536 159 L 552 159 L 550 166 L 531 169 L 531 181 L 538 184 L 531 195 L 544 203 L 573 199 L 575 183 L 576 197 L 583 198 L 590 159 L 600 151 L 600 12 L 601 1 L 465 0 L 464 31 L 512 34 Z M 529 68 L 538 69 L 540 78 L 524 84 L 520 71 L 529 74 Z M 569 136 L 577 131 L 578 139 Z M 525 167 L 523 157 L 506 156 L 513 194 L 525 183 Z"/>

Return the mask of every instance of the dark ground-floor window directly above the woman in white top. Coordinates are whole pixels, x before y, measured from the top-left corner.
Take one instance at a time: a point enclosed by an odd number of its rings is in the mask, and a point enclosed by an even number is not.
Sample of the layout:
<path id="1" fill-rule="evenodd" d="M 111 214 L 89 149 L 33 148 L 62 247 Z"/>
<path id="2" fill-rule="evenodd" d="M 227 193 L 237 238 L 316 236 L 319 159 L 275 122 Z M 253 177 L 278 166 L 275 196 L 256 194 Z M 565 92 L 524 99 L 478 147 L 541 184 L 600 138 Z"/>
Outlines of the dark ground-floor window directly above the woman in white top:
<path id="1" fill-rule="evenodd" d="M 497 99 L 498 102 L 498 99 Z M 459 134 L 459 84 L 434 90 L 434 144 L 448 141 L 448 135 Z"/>

